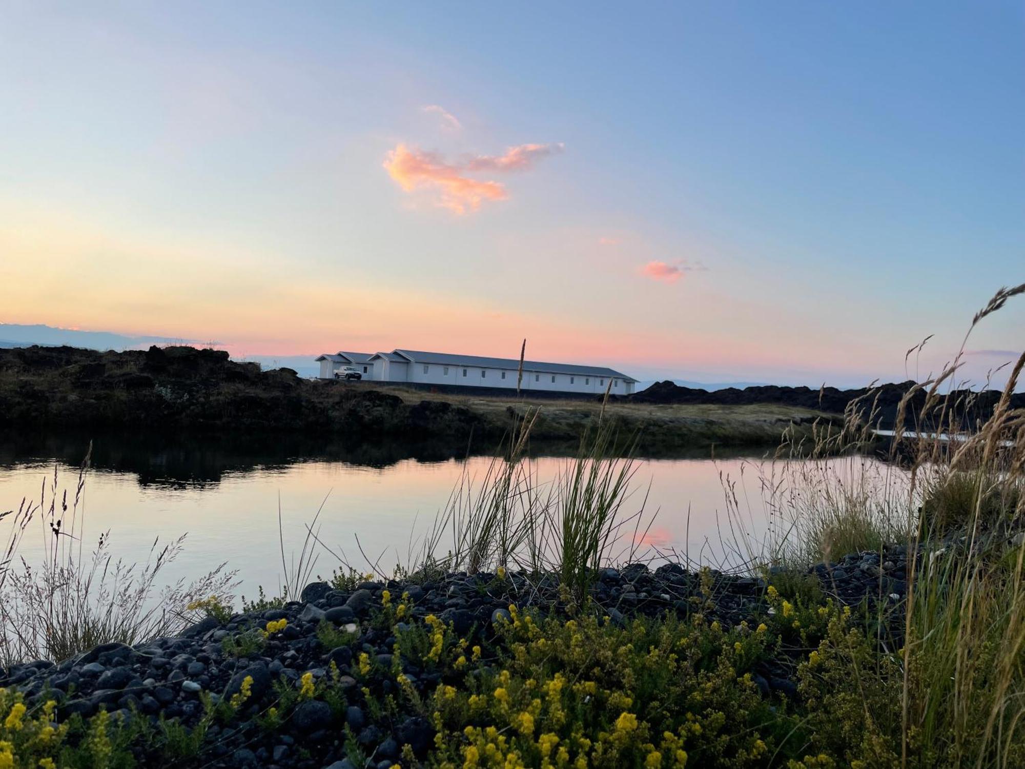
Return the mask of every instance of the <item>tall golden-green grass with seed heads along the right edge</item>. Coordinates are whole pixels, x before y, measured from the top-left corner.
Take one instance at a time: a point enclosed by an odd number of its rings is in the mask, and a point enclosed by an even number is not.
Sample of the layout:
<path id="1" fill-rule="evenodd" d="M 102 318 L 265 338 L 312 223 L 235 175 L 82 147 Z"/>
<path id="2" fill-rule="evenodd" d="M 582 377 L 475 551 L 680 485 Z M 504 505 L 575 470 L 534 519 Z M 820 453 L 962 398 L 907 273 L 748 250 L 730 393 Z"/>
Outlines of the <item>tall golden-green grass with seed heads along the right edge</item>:
<path id="1" fill-rule="evenodd" d="M 969 334 L 1022 293 L 1025 284 L 1000 289 Z M 885 693 L 863 700 L 859 724 L 890 757 L 879 765 L 1025 766 L 1025 411 L 1010 405 L 1025 354 L 989 417 L 966 429 L 971 399 L 953 403 L 941 389 L 952 388 L 968 338 L 937 377 L 904 396 L 889 462 L 856 453 L 873 440 L 870 396 L 849 407 L 843 428 L 821 428 L 811 445 L 784 444 L 760 474 L 766 537 L 746 535 L 754 514 L 727 484 L 740 532 L 733 550 L 749 567 L 906 548 L 902 625 L 879 632 L 872 664 L 840 644 L 852 690 Z M 917 411 L 916 392 L 926 395 Z M 885 628 L 891 609 L 878 601 L 874 610 Z"/>

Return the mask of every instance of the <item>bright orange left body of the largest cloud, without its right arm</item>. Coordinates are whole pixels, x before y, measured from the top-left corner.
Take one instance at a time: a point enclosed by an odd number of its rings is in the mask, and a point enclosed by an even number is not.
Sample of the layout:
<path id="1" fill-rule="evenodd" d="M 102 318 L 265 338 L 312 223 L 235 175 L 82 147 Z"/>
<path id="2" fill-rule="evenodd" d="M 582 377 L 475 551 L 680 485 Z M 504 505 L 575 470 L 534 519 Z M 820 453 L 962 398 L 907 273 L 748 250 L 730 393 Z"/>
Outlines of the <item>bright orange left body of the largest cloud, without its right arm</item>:
<path id="1" fill-rule="evenodd" d="M 384 169 L 406 192 L 436 189 L 439 205 L 455 213 L 476 211 L 485 200 L 506 200 L 508 193 L 498 181 L 480 181 L 462 174 L 439 155 L 398 145 L 384 158 Z"/>

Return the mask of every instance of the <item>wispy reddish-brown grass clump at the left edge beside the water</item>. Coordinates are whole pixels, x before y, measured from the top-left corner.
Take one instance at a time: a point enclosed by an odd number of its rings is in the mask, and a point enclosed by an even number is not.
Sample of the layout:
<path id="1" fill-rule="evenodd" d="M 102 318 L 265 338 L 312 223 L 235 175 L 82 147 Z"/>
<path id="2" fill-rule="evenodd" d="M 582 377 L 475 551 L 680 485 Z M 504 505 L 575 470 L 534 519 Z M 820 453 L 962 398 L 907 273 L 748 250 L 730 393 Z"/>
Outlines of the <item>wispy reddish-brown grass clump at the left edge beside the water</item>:
<path id="1" fill-rule="evenodd" d="M 115 559 L 110 532 L 85 547 L 84 489 L 89 456 L 79 470 L 69 500 L 59 491 L 57 470 L 45 480 L 39 501 L 24 499 L 8 517 L 10 531 L 0 566 L 0 664 L 60 661 L 117 641 L 132 644 L 181 631 L 198 618 L 188 606 L 216 596 L 230 603 L 235 572 L 219 564 L 191 582 L 158 588 L 159 578 L 181 554 L 184 536 L 154 540 L 140 563 Z M 42 557 L 18 557 L 33 528 L 42 537 Z"/>

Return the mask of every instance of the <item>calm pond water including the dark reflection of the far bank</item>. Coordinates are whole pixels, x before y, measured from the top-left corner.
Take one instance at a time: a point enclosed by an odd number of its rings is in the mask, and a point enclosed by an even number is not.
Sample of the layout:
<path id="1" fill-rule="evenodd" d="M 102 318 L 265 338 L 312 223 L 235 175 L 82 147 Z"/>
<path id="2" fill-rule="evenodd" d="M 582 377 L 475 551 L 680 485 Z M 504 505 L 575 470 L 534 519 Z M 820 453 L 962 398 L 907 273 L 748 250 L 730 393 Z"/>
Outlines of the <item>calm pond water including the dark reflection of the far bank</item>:
<path id="1" fill-rule="evenodd" d="M 16 508 L 23 497 L 39 499 L 54 468 L 58 488 L 73 495 L 87 447 L 85 439 L 0 439 L 0 512 Z M 488 456 L 452 458 L 442 449 L 406 455 L 417 453 L 414 449 L 95 439 L 82 504 L 85 545 L 93 545 L 109 529 L 113 552 L 138 560 L 155 537 L 165 540 L 188 532 L 184 553 L 166 572 L 169 578 L 194 576 L 227 561 L 238 569 L 243 593 L 254 594 L 257 584 L 271 592 L 282 574 L 279 499 L 286 552 L 296 553 L 303 524 L 323 502 L 321 538 L 363 568 L 358 535 L 364 552 L 380 558 L 389 570 L 407 562 L 411 535 L 434 520 L 460 476 L 483 477 L 491 461 Z M 530 461 L 544 482 L 566 459 L 538 456 Z M 689 548 L 692 559 L 703 552 L 705 560 L 714 560 L 721 531 L 728 529 L 722 478 L 743 476 L 741 498 L 744 492 L 757 497 L 757 463 L 756 457 L 641 460 L 637 489 L 624 512 L 638 511 L 647 494 L 645 510 L 657 516 L 644 545 L 680 552 Z M 755 510 L 749 532 L 757 537 L 765 525 Z M 6 539 L 6 530 L 0 529 L 0 535 Z M 23 554 L 30 559 L 38 554 L 45 536 L 42 526 L 36 526 L 26 536 Z M 326 575 L 336 565 L 321 552 L 315 571 Z"/>

